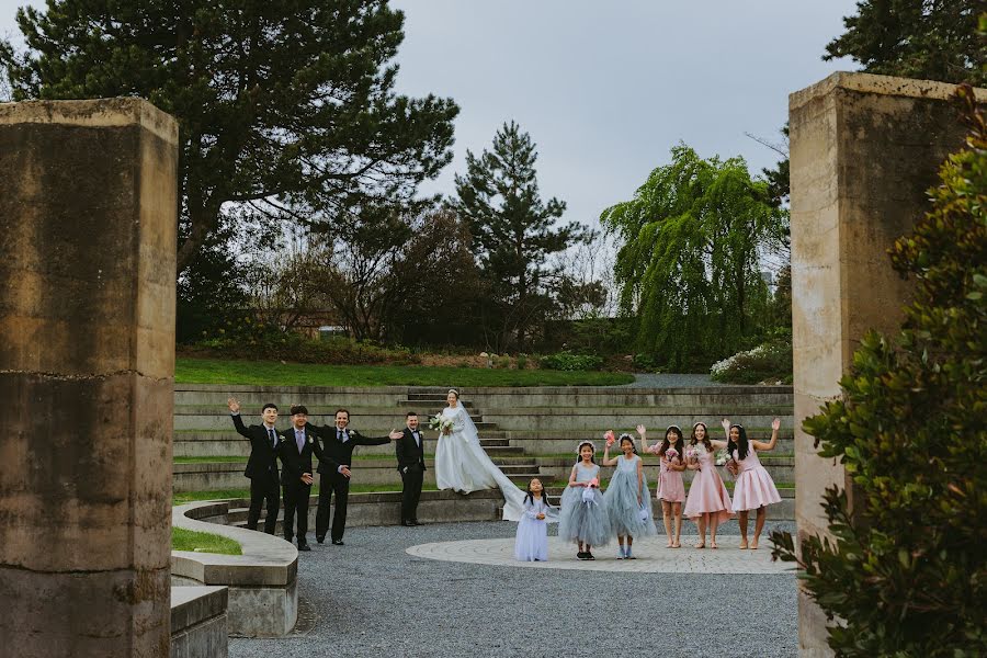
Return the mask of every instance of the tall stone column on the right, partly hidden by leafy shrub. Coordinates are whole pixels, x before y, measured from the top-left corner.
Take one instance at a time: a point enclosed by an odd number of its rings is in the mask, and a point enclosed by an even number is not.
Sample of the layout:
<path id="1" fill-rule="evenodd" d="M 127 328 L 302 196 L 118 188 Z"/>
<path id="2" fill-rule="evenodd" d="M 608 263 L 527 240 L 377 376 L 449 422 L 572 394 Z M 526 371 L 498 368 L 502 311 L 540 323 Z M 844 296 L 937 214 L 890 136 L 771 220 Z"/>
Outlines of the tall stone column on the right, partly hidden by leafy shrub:
<path id="1" fill-rule="evenodd" d="M 798 537 L 826 533 L 827 486 L 848 490 L 843 468 L 817 456 L 802 420 L 840 395 L 861 337 L 894 333 L 910 283 L 887 249 L 930 208 L 945 158 L 965 129 L 952 84 L 833 73 L 789 99 L 792 167 L 792 326 L 795 352 L 795 518 Z M 985 92 L 987 94 L 987 92 Z M 987 97 L 985 97 L 987 99 Z M 829 656 L 826 620 L 798 594 L 799 654 Z"/>

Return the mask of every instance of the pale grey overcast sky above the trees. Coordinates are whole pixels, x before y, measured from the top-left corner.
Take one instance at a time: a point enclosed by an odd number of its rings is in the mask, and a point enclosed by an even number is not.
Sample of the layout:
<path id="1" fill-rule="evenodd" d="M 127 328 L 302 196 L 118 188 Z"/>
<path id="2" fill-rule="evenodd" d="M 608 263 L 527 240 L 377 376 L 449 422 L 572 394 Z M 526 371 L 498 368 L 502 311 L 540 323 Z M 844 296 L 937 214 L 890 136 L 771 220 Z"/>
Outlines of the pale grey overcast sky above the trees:
<path id="1" fill-rule="evenodd" d="M 35 0 L 35 5 L 43 2 Z M 0 0 L 0 34 L 23 0 Z M 684 141 L 702 157 L 778 156 L 787 97 L 852 61 L 820 59 L 854 0 L 392 0 L 406 13 L 399 91 L 460 104 L 453 192 L 466 149 L 514 120 L 538 145 L 544 198 L 595 224 Z"/>

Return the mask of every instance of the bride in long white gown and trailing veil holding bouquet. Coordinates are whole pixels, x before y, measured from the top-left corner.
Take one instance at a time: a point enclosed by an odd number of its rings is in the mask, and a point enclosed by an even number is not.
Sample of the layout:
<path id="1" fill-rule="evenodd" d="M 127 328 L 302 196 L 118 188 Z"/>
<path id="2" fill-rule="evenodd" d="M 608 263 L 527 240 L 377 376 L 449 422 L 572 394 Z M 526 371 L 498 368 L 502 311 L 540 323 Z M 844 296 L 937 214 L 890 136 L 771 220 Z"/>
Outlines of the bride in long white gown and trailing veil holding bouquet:
<path id="1" fill-rule="evenodd" d="M 460 394 L 455 389 L 450 390 L 445 401 L 449 407 L 442 410 L 442 417 L 452 421 L 452 430 L 447 434 L 439 434 L 435 484 L 440 489 L 453 489 L 461 494 L 500 487 L 504 500 L 504 521 L 520 521 L 524 511 L 524 491 L 484 452 L 469 412 L 460 405 Z"/>

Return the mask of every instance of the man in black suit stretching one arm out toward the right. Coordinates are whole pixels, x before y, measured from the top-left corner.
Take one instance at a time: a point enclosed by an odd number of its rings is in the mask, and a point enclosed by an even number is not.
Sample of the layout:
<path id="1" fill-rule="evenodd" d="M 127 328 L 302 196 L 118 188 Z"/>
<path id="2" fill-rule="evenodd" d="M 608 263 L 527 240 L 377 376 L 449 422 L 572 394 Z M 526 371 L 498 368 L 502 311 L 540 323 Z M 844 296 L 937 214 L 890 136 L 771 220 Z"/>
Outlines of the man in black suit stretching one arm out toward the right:
<path id="1" fill-rule="evenodd" d="M 358 445 L 384 445 L 397 441 L 400 432 L 392 431 L 387 436 L 364 436 L 350 430 L 350 412 L 336 412 L 336 424 L 313 428 L 322 440 L 322 458 L 319 460 L 319 509 L 316 512 L 316 541 L 321 544 L 329 529 L 329 503 L 336 492 L 336 511 L 332 514 L 332 543 L 342 546 L 342 535 L 347 529 L 347 500 L 350 496 L 350 464 L 353 449 Z"/>

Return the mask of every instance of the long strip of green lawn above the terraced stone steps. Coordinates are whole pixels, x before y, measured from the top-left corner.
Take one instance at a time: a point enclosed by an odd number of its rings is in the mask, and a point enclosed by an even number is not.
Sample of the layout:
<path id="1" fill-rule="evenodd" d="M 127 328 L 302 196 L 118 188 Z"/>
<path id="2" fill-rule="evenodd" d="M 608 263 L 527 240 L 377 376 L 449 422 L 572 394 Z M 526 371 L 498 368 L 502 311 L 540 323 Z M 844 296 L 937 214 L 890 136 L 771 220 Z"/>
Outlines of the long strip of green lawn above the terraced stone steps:
<path id="1" fill-rule="evenodd" d="M 627 373 L 485 370 L 421 365 L 321 365 L 280 361 L 175 359 L 178 384 L 257 386 L 611 386 Z"/>

